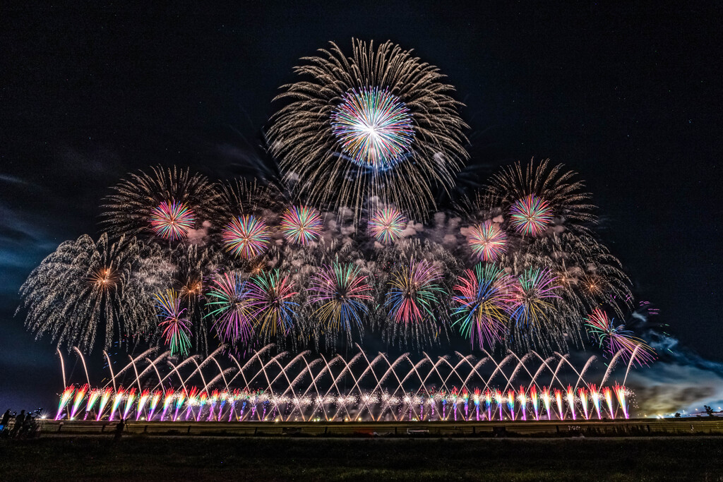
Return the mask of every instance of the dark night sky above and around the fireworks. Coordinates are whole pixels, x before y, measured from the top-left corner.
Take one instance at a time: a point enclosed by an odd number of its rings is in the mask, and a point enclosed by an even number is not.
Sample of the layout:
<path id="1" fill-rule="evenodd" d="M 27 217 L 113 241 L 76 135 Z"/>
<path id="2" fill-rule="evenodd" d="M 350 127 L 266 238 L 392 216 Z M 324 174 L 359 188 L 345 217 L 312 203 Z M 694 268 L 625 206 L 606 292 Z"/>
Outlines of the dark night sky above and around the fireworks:
<path id="1" fill-rule="evenodd" d="M 61 241 L 97 233 L 107 187 L 158 163 L 239 172 L 299 57 L 328 40 L 348 51 L 354 36 L 414 48 L 448 75 L 483 180 L 533 156 L 581 173 L 637 298 L 682 345 L 723 361 L 722 12 L 546 3 L 5 5 L 0 405 L 60 388 L 51 343 L 13 317 L 17 290 Z"/>

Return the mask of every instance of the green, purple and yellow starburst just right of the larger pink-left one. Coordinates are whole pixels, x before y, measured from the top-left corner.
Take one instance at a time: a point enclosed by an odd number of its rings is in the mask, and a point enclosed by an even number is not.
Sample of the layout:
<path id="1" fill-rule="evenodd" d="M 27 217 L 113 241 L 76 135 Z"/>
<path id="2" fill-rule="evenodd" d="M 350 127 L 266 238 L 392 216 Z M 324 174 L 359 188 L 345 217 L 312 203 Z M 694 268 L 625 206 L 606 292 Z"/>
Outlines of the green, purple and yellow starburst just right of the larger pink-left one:
<path id="1" fill-rule="evenodd" d="M 555 291 L 557 277 L 549 270 L 528 268 L 510 285 L 510 312 L 512 319 L 522 326 L 539 326 L 547 319 L 552 300 L 559 299 Z"/>

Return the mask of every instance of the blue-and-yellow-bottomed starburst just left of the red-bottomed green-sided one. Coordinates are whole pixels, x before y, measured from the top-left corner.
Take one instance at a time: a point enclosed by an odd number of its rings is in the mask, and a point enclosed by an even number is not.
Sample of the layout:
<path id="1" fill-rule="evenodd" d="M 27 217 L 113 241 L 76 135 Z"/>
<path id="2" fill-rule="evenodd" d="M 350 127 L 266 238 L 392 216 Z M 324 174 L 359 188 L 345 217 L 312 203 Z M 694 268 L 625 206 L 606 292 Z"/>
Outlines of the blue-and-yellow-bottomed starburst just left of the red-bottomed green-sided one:
<path id="1" fill-rule="evenodd" d="M 361 328 L 361 317 L 369 313 L 372 287 L 354 264 L 334 263 L 322 267 L 311 279 L 309 303 L 319 305 L 314 314 L 329 330 Z"/>

